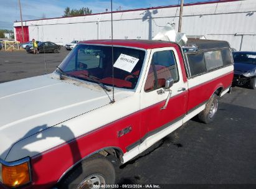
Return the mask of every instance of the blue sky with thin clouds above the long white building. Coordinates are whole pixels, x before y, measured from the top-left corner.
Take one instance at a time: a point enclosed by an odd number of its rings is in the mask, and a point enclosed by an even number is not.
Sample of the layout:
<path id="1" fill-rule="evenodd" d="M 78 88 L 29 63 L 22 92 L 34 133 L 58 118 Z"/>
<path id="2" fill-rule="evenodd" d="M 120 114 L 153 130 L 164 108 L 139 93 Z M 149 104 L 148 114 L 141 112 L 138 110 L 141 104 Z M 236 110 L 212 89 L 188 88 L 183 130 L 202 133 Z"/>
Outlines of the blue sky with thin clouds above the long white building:
<path id="1" fill-rule="evenodd" d="M 137 9 L 151 6 L 166 6 L 178 4 L 180 0 L 113 0 L 113 11 L 121 6 L 121 10 Z M 185 3 L 212 0 L 184 0 Z M 110 1 L 107 0 L 21 0 L 22 18 L 24 21 L 40 19 L 44 15 L 47 18 L 61 17 L 65 7 L 70 9 L 80 9 L 89 7 L 93 13 L 105 12 L 110 10 Z M 17 0 L 1 0 L 0 29 L 12 29 L 14 21 L 19 21 L 19 4 Z"/>

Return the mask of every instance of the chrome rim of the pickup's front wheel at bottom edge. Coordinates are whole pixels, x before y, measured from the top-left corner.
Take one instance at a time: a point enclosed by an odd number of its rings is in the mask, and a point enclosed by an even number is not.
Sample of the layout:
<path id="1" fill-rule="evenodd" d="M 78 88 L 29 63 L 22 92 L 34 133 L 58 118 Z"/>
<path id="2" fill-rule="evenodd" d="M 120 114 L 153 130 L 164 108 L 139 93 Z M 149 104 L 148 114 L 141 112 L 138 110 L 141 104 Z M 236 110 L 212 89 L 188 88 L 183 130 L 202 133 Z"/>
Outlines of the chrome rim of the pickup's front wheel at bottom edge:
<path id="1" fill-rule="evenodd" d="M 77 189 L 87 188 L 102 188 L 100 185 L 105 185 L 106 181 L 103 175 L 93 174 L 85 178 L 78 186 Z"/>

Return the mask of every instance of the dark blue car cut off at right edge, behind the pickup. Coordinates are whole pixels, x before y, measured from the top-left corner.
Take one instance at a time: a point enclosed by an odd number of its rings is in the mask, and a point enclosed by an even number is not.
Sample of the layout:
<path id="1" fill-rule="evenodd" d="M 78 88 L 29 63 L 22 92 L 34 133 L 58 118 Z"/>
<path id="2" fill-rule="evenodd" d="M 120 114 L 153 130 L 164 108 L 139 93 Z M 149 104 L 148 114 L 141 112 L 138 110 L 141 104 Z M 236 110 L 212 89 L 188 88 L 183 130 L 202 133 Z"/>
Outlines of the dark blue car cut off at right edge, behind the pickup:
<path id="1" fill-rule="evenodd" d="M 256 89 L 256 52 L 233 52 L 234 85 Z"/>

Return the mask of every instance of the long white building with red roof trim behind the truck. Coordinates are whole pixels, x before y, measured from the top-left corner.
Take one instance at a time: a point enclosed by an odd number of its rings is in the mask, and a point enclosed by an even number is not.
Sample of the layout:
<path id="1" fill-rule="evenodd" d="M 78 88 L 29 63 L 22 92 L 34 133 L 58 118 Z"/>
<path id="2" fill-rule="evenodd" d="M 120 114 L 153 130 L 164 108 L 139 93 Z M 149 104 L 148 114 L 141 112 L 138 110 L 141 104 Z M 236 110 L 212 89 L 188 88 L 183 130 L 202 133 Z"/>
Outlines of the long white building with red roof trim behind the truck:
<path id="1" fill-rule="evenodd" d="M 152 39 L 164 25 L 178 30 L 179 6 L 113 12 L 114 39 Z M 50 40 L 65 45 L 72 40 L 110 39 L 111 14 L 24 21 L 26 40 Z M 14 22 L 17 40 L 21 22 Z M 182 32 L 206 39 L 227 40 L 237 50 L 256 51 L 256 1 L 220 0 L 185 4 Z"/>

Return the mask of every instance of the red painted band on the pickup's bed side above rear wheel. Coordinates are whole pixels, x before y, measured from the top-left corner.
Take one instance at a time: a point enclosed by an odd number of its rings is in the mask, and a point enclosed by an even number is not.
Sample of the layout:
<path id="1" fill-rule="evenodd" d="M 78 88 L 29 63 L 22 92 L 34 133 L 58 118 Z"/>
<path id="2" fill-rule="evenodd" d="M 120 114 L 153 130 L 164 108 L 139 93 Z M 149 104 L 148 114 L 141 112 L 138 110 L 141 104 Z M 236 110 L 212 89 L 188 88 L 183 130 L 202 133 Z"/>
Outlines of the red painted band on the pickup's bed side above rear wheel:
<path id="1" fill-rule="evenodd" d="M 198 106 L 199 104 L 207 101 L 212 94 L 220 87 L 224 90 L 228 88 L 233 80 L 234 73 L 233 71 L 225 75 L 220 76 L 201 85 L 197 85 L 189 89 L 189 102 L 187 106 L 187 111 Z"/>

